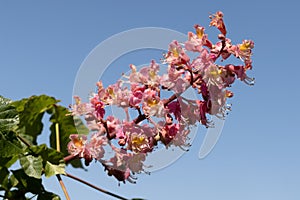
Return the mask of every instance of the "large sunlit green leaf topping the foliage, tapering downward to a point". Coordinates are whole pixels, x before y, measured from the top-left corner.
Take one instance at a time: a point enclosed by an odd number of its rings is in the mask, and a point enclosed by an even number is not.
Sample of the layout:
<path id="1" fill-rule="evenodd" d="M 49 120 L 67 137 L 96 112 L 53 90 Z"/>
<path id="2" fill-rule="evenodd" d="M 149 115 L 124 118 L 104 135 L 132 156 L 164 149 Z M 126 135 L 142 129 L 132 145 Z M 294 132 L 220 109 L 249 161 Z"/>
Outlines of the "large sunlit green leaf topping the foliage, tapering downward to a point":
<path id="1" fill-rule="evenodd" d="M 36 144 L 36 138 L 43 130 L 42 118 L 46 111 L 51 109 L 57 102 L 54 97 L 46 95 L 31 96 L 28 99 L 13 102 L 19 112 L 19 128 L 23 134 L 33 137 L 33 144 Z"/>

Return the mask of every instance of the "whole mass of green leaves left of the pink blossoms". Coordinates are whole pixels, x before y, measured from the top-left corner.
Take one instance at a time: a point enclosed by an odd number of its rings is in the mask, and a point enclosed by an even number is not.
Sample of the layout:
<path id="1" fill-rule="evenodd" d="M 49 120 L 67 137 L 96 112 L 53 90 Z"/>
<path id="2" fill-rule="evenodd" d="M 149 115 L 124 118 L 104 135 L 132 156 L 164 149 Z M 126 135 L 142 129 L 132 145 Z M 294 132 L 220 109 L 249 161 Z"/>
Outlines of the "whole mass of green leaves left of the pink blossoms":
<path id="1" fill-rule="evenodd" d="M 55 150 L 55 144 L 50 147 L 37 145 L 37 137 L 43 131 L 45 113 L 50 114 L 51 126 L 60 124 L 60 130 L 65 134 L 61 139 L 62 145 L 66 146 L 68 142 L 66 130 L 76 131 L 71 121 L 73 117 L 63 117 L 67 109 L 57 105 L 58 102 L 46 95 L 14 102 L 0 96 L 0 191 L 4 191 L 5 198 L 26 199 L 31 193 L 37 195 L 37 199 L 59 199 L 45 190 L 42 176 L 65 174 L 64 156 L 67 152 Z M 51 129 L 51 136 L 55 135 L 54 131 Z M 17 161 L 21 168 L 13 170 L 13 164 Z"/>

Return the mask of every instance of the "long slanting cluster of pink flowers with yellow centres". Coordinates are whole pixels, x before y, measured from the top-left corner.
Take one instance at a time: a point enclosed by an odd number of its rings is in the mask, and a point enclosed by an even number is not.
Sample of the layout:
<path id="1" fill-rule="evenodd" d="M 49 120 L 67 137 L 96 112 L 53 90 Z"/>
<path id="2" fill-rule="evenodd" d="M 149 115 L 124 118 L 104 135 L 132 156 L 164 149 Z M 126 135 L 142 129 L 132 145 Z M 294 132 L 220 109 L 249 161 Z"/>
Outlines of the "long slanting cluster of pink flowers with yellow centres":
<path id="1" fill-rule="evenodd" d="M 224 118 L 230 109 L 227 99 L 233 96 L 228 88 L 234 81 L 254 84 L 254 79 L 246 75 L 252 69 L 254 43 L 244 40 L 233 45 L 226 37 L 222 12 L 211 15 L 210 19 L 210 26 L 220 31 L 218 42 L 213 44 L 204 27 L 195 25 L 195 32 L 187 34 L 185 43 L 175 40 L 170 43 L 162 59 L 167 73 L 160 75 L 160 65 L 154 60 L 140 70 L 130 65 L 131 72 L 124 76 L 126 80 L 107 87 L 98 82 L 98 91 L 88 103 L 75 97 L 72 114 L 85 116 L 93 134 L 89 140 L 84 135 L 71 135 L 69 153 L 84 158 L 87 165 L 93 159 L 98 160 L 108 175 L 119 181 L 134 182 L 132 174 L 145 171 L 143 162 L 158 144 L 188 148 L 191 126 L 197 123 L 211 126 L 209 115 Z M 189 51 L 198 56 L 190 58 Z M 240 59 L 241 64 L 217 64 L 218 58 L 224 62 L 231 55 Z M 189 87 L 201 94 L 199 99 L 181 96 Z M 174 94 L 162 98 L 162 91 Z M 107 106 L 122 108 L 126 119 L 106 116 Z M 129 110 L 136 110 L 135 119 L 130 119 Z M 113 155 L 106 156 L 106 151 Z"/>

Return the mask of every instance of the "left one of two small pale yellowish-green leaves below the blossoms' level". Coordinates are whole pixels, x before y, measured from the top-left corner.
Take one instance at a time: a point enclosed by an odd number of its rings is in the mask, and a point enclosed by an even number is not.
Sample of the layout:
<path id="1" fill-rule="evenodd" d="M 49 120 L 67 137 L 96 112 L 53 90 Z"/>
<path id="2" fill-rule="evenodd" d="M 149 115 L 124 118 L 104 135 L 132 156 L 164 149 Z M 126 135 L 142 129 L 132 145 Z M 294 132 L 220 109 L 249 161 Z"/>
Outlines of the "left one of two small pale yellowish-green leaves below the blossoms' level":
<path id="1" fill-rule="evenodd" d="M 41 156 L 22 155 L 19 157 L 20 164 L 23 167 L 25 173 L 37 179 L 42 177 L 43 171 L 43 159 Z"/>

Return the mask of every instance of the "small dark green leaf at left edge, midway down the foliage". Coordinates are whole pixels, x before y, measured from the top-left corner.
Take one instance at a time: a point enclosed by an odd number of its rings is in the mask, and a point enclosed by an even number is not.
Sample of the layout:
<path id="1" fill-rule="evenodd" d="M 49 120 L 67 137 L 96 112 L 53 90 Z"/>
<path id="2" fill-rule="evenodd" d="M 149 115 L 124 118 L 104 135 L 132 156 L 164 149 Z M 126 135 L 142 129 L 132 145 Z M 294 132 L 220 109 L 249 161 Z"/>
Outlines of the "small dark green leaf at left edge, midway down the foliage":
<path id="1" fill-rule="evenodd" d="M 4 135 L 0 131 L 0 155 L 3 158 L 14 157 L 19 153 L 22 153 L 22 145 L 17 139 L 16 134 L 9 132 Z"/>

